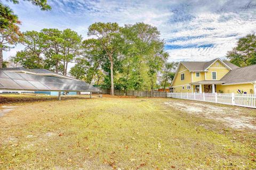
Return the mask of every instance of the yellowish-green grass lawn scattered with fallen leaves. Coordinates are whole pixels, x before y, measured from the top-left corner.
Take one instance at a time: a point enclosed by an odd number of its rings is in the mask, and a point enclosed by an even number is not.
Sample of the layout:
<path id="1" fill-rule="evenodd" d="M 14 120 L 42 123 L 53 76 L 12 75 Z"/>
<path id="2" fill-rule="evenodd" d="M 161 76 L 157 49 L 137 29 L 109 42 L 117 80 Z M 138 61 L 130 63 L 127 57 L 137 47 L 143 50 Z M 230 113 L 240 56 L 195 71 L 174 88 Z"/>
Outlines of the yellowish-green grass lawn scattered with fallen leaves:
<path id="1" fill-rule="evenodd" d="M 164 105 L 177 99 L 38 98 L 2 104 L 19 107 L 0 117 L 0 169 L 256 168 L 255 131 Z"/>

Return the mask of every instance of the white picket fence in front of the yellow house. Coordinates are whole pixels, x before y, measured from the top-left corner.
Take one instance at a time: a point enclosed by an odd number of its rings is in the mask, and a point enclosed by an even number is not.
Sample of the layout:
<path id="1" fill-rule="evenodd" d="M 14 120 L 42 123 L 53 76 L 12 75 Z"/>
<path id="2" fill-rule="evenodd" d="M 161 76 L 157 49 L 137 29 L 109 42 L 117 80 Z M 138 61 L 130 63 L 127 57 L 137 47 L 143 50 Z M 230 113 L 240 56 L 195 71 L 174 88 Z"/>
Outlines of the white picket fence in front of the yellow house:
<path id="1" fill-rule="evenodd" d="M 211 94 L 211 93 L 175 93 L 168 92 L 167 97 L 178 99 L 189 99 L 198 101 L 207 101 L 212 103 L 220 103 L 234 106 L 243 106 L 256 108 L 256 95 L 255 94 Z"/>

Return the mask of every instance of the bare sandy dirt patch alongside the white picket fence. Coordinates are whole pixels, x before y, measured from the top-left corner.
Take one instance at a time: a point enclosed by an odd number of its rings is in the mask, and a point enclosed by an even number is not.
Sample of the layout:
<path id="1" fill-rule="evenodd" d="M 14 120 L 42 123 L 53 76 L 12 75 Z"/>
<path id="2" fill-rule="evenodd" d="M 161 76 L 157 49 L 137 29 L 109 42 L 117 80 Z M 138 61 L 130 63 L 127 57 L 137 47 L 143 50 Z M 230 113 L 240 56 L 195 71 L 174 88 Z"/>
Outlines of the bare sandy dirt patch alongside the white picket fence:
<path id="1" fill-rule="evenodd" d="M 256 130 L 256 124 L 254 123 L 256 118 L 245 116 L 243 109 L 239 107 L 230 108 L 228 106 L 187 102 L 183 100 L 165 102 L 164 104 L 189 114 L 224 122 L 230 128 Z"/>

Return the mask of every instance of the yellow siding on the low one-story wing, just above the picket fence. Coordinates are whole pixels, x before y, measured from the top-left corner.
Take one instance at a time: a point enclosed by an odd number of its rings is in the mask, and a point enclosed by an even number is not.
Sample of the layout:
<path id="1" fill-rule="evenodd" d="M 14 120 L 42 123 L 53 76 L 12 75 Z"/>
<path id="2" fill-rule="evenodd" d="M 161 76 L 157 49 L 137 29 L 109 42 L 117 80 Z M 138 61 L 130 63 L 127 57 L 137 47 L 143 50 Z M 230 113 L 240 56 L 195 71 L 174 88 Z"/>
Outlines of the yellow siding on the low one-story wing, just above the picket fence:
<path id="1" fill-rule="evenodd" d="M 237 90 L 243 90 L 244 92 L 247 92 L 247 94 L 250 94 L 250 90 L 253 90 L 253 84 L 234 84 L 234 85 L 217 85 L 217 92 L 219 90 L 222 90 L 224 93 L 237 93 Z"/>

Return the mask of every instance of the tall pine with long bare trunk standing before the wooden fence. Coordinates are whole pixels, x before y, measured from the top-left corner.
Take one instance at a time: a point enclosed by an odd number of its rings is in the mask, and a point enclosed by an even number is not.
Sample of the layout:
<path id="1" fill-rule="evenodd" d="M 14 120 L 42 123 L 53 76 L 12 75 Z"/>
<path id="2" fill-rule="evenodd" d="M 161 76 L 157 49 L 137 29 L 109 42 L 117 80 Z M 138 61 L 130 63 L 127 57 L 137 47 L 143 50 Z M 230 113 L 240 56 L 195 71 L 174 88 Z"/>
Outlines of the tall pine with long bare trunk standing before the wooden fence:
<path id="1" fill-rule="evenodd" d="M 93 23 L 89 27 L 88 36 L 96 36 L 106 52 L 110 62 L 111 95 L 114 96 L 114 55 L 121 45 L 120 27 L 117 23 Z"/>

